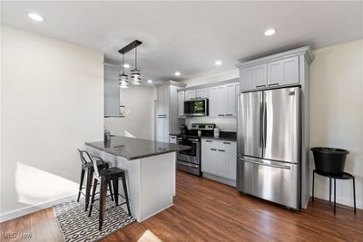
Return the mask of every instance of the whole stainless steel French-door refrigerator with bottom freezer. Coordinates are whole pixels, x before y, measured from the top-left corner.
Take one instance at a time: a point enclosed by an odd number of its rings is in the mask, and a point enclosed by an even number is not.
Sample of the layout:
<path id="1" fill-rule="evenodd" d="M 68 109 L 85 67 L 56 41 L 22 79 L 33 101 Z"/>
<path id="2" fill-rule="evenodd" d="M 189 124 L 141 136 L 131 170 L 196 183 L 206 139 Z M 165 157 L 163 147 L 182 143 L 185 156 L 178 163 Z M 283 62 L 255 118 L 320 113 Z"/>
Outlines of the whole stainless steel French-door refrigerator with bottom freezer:
<path id="1" fill-rule="evenodd" d="M 300 88 L 241 93 L 237 188 L 300 208 Z"/>

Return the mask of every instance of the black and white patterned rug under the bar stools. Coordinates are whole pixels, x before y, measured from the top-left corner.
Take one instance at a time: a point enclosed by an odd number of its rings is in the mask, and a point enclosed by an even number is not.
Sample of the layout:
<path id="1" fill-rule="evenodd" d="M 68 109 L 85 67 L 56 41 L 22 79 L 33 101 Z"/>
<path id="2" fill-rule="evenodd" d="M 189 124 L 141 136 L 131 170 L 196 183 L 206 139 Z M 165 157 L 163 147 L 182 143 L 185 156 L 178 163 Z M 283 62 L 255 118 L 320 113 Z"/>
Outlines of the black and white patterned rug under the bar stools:
<path id="1" fill-rule="evenodd" d="M 93 207 L 92 216 L 88 218 L 88 211 L 84 211 L 84 199 L 80 202 L 74 199 L 54 206 L 54 214 L 64 240 L 66 242 L 98 241 L 136 220 L 129 216 L 123 206 L 115 207 L 111 200 L 106 204 L 101 231 L 98 230 L 98 210 Z M 98 201 L 94 203 L 94 206 L 98 208 Z"/>

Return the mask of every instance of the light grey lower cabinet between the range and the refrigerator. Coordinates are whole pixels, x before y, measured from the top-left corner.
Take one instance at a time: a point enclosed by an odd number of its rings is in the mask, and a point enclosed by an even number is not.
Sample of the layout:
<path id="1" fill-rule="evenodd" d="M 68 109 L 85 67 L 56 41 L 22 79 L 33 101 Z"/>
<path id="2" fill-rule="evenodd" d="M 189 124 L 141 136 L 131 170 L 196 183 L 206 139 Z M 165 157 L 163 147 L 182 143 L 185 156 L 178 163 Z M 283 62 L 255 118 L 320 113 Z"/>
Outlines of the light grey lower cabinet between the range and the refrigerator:
<path id="1" fill-rule="evenodd" d="M 237 146 L 234 141 L 201 140 L 201 171 L 236 180 Z"/>

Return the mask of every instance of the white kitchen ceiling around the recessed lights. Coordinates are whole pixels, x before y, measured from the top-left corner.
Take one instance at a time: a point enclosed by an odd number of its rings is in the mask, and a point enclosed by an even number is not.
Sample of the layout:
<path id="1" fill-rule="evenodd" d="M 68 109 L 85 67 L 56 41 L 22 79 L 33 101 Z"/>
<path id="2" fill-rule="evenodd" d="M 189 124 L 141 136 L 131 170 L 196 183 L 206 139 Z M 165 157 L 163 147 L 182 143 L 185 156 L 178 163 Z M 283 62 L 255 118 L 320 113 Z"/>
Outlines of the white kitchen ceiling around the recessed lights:
<path id="1" fill-rule="evenodd" d="M 363 37 L 362 2 L 1 2 L 1 22 L 101 51 L 138 39 L 145 79 L 183 80 L 243 60 L 309 44 L 312 49 Z M 44 22 L 27 17 L 38 13 Z M 266 37 L 273 27 L 277 34 Z M 126 55 L 133 63 L 133 52 Z M 213 65 L 221 60 L 220 67 Z M 176 78 L 173 73 L 182 75 Z"/>

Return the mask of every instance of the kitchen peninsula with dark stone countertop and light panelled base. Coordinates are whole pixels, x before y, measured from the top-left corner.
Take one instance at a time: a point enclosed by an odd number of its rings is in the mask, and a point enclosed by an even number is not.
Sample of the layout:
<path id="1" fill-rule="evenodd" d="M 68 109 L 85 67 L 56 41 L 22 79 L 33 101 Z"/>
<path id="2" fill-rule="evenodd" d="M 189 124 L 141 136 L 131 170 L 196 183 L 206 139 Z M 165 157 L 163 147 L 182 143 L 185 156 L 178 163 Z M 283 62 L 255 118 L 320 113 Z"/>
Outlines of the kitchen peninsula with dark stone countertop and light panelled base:
<path id="1" fill-rule="evenodd" d="M 190 147 L 123 136 L 85 145 L 110 167 L 125 170 L 132 215 L 139 222 L 173 205 L 176 152 Z"/>

